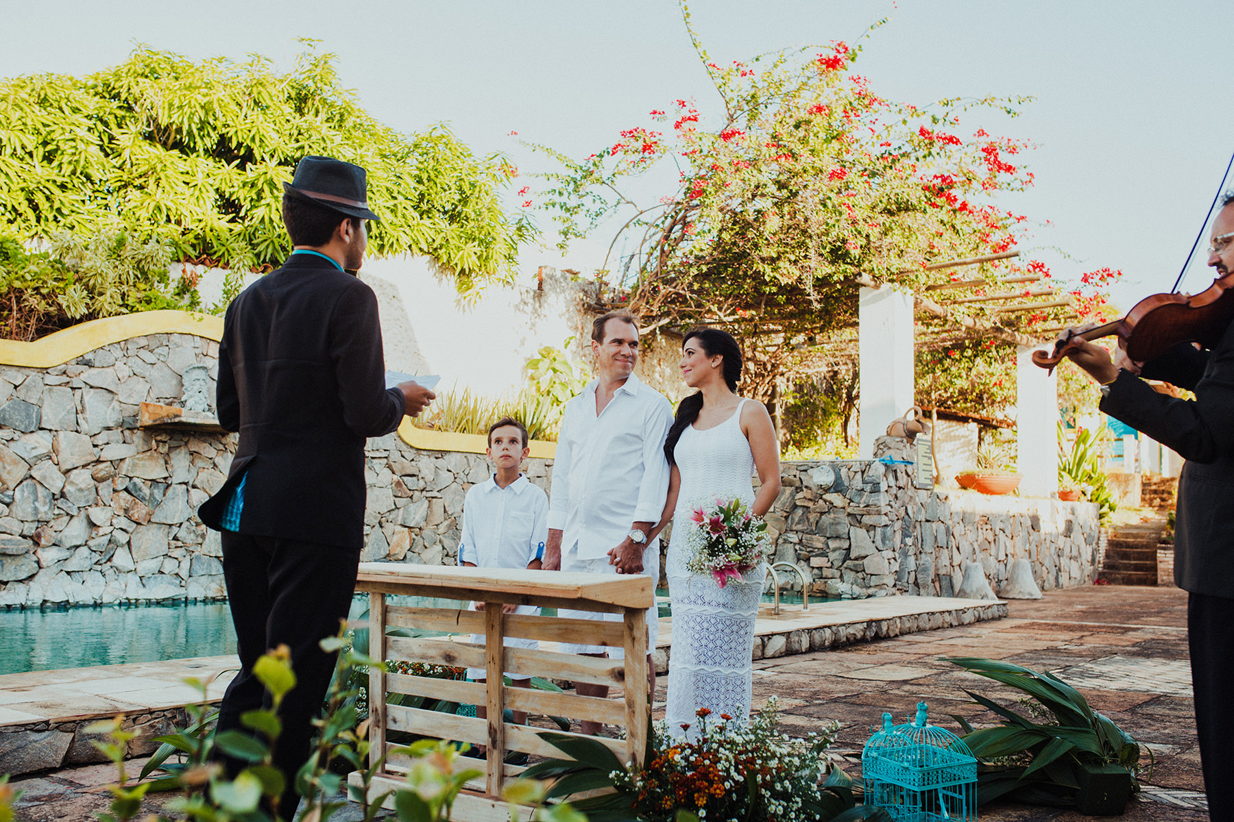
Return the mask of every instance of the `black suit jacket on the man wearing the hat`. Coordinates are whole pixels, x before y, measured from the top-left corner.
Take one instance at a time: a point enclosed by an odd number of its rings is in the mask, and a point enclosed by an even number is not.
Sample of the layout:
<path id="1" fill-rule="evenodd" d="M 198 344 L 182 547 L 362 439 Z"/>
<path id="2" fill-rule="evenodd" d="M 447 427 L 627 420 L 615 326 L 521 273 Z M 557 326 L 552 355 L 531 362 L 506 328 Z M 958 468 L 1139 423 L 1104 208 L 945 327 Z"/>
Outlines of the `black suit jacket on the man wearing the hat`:
<path id="1" fill-rule="evenodd" d="M 373 290 L 320 256 L 292 254 L 228 306 L 217 398 L 239 446 L 201 521 L 218 530 L 247 474 L 241 534 L 363 547 L 364 440 L 404 415 L 402 392 L 385 388 Z"/>

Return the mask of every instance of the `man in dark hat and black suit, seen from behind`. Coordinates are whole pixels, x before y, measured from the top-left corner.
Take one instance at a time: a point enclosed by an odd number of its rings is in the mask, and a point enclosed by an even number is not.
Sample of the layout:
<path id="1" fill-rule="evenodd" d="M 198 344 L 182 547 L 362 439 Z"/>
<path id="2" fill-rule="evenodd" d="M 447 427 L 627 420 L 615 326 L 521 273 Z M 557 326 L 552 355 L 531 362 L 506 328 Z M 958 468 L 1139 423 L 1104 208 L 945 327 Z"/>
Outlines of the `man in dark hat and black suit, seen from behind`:
<path id="1" fill-rule="evenodd" d="M 284 184 L 283 221 L 295 246 L 283 267 L 227 308 L 218 346 L 218 421 L 239 431 L 227 482 L 201 505 L 222 531 L 223 577 L 241 672 L 223 696 L 218 731 L 242 728 L 263 706 L 253 663 L 286 645 L 296 686 L 284 699 L 274 764 L 286 778 L 276 808 L 291 820 L 295 775 L 308 754 L 338 632 L 355 589 L 364 541 L 364 441 L 415 417 L 433 393 L 385 387 L 373 290 L 352 272 L 364 261 L 364 169 L 306 157 Z M 223 759 L 234 775 L 244 763 Z"/>

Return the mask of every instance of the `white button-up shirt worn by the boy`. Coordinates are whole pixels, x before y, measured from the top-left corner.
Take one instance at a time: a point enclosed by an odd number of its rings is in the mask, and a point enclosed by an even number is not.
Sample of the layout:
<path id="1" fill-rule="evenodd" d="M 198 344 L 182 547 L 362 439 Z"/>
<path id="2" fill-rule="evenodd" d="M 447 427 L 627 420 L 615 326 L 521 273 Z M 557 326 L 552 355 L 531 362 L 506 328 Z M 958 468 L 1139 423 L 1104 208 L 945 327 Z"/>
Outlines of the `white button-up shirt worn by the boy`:
<path id="1" fill-rule="evenodd" d="M 471 486 L 463 500 L 459 563 L 480 568 L 526 568 L 544 555 L 548 495 L 526 474 L 505 488 L 495 477 Z"/>

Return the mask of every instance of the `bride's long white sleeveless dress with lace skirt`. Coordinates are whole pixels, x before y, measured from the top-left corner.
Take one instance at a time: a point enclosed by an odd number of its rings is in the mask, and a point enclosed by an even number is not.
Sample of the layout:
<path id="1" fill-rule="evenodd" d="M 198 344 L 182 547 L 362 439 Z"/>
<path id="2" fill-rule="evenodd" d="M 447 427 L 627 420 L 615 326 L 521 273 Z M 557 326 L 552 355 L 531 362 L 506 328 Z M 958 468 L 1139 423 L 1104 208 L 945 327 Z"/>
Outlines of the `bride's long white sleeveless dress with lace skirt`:
<path id="1" fill-rule="evenodd" d="M 733 415 L 700 431 L 687 425 L 674 450 L 681 472 L 681 489 L 673 515 L 673 539 L 665 569 L 673 603 L 673 649 L 669 657 L 669 730 L 682 733 L 684 723 L 697 726 L 695 711 L 708 707 L 712 718 L 728 714 L 744 721 L 750 711 L 750 648 L 754 616 L 763 594 L 766 566 L 745 574 L 742 582 L 721 588 L 710 576 L 685 568 L 690 510 L 716 497 L 740 497 L 754 502 L 754 455 L 742 434 L 743 399 Z"/>

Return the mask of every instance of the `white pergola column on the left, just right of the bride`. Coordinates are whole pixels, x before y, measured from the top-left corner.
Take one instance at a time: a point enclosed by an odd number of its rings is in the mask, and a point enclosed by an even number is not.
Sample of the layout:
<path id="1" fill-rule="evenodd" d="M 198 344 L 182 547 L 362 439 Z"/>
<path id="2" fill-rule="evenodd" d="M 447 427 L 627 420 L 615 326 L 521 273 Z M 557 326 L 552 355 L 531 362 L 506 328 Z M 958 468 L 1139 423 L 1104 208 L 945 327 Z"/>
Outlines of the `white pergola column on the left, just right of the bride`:
<path id="1" fill-rule="evenodd" d="M 874 440 L 913 404 L 913 296 L 863 286 L 858 306 L 859 456 L 869 460 Z"/>

